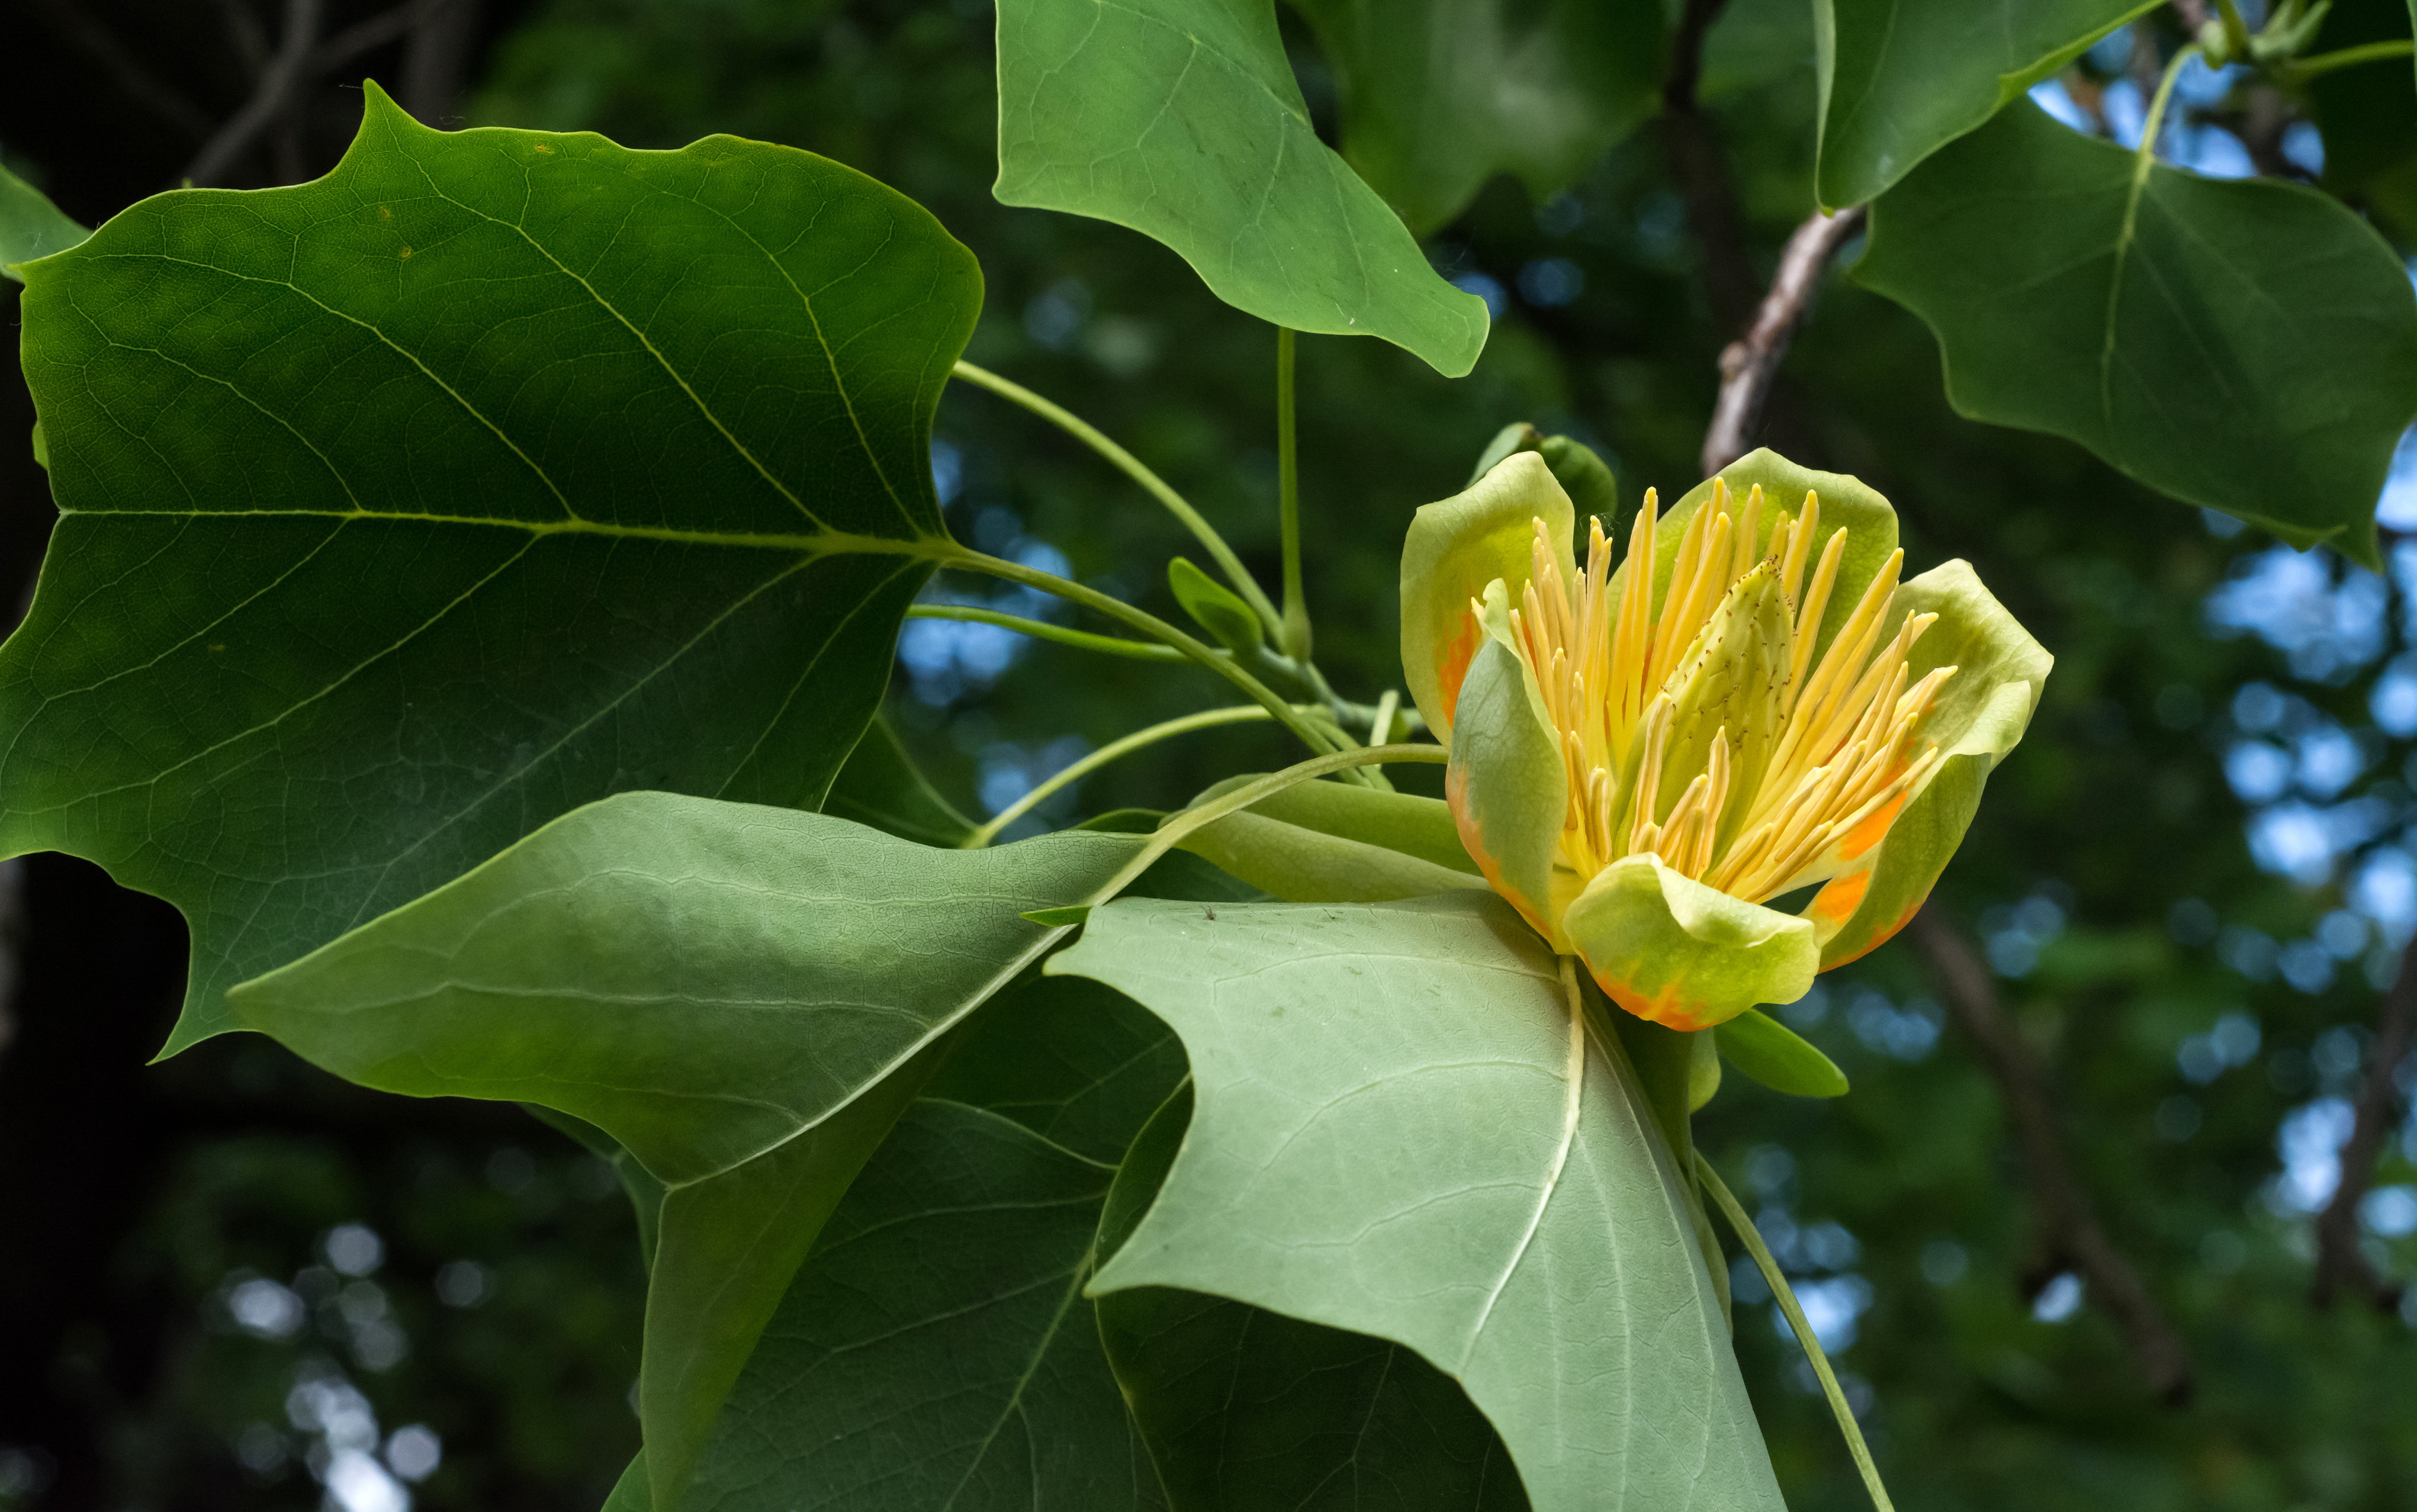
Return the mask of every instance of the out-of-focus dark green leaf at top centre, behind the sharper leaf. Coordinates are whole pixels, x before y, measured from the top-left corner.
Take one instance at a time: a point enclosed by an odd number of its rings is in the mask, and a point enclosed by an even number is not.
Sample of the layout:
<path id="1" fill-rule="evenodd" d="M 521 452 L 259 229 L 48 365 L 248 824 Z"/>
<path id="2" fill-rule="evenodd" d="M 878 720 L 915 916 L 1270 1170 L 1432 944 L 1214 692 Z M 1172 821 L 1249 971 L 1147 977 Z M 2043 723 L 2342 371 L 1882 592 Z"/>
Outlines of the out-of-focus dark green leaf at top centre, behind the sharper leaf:
<path id="1" fill-rule="evenodd" d="M 1341 87 L 1344 159 L 1421 237 L 1494 174 L 1537 200 L 1660 101 L 1653 0 L 1293 0 Z"/>

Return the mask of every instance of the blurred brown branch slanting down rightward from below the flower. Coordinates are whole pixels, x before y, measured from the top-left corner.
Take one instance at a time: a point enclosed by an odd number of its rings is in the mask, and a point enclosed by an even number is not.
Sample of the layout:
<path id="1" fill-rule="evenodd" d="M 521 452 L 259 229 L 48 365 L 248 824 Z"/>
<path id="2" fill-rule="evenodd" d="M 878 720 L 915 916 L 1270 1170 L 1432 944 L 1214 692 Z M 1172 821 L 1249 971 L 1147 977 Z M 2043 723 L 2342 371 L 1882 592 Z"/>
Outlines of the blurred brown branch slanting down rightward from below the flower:
<path id="1" fill-rule="evenodd" d="M 2023 1179 L 2030 1186 L 2035 1256 L 2023 1268 L 2023 1292 L 2035 1297 L 2059 1270 L 2079 1270 L 2091 1302 L 2122 1328 L 2132 1360 L 2149 1386 L 2170 1406 L 2190 1398 L 2190 1353 L 2183 1338 L 2141 1285 L 2132 1261 L 2115 1249 L 2091 1210 L 2081 1179 L 2064 1155 L 2057 1106 L 2047 1077 L 2030 1046 L 2013 1031 L 1996 1002 L 1996 983 L 1938 903 L 1914 915 L 1907 930 L 1931 966 L 1948 1012 L 1980 1048 L 1982 1065 L 1996 1077 L 2006 1099 L 2006 1118 L 2023 1152 Z"/>

